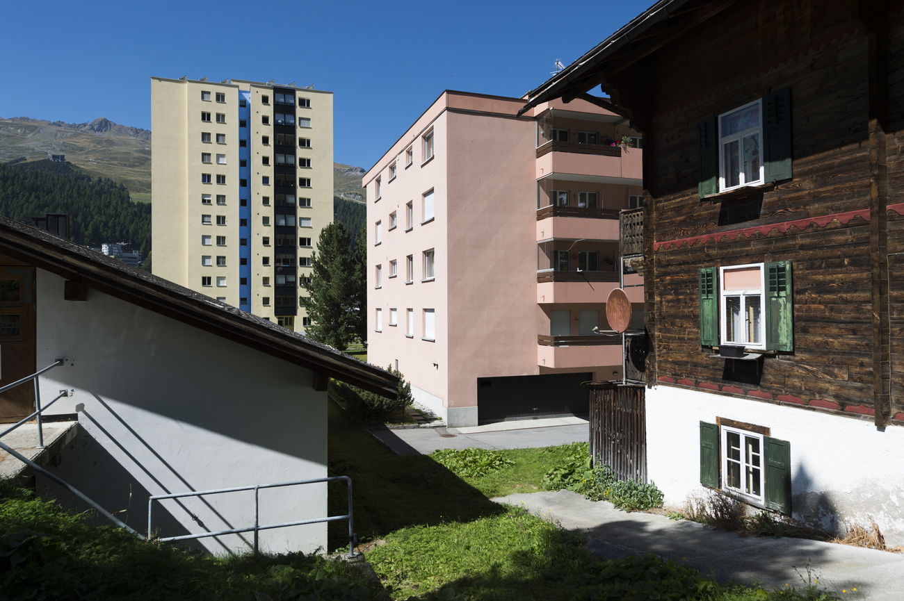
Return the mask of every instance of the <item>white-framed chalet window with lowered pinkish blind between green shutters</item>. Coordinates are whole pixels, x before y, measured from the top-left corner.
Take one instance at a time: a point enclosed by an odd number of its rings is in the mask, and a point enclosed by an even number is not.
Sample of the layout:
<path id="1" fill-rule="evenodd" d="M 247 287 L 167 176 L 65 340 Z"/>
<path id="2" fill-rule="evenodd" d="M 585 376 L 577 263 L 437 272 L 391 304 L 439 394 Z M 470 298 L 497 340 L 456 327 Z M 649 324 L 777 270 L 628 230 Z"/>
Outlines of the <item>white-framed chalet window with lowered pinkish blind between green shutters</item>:
<path id="1" fill-rule="evenodd" d="M 720 268 L 720 342 L 765 349 L 763 264 Z"/>

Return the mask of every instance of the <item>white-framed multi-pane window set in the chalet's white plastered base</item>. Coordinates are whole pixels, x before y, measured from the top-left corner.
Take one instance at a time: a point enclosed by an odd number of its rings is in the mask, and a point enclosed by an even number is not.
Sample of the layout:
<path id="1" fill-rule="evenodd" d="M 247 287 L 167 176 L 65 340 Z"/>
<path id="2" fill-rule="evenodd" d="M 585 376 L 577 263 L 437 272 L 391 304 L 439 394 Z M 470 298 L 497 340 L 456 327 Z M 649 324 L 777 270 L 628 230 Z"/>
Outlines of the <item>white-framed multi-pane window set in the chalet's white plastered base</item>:
<path id="1" fill-rule="evenodd" d="M 765 502 L 763 435 L 721 426 L 722 489 Z"/>

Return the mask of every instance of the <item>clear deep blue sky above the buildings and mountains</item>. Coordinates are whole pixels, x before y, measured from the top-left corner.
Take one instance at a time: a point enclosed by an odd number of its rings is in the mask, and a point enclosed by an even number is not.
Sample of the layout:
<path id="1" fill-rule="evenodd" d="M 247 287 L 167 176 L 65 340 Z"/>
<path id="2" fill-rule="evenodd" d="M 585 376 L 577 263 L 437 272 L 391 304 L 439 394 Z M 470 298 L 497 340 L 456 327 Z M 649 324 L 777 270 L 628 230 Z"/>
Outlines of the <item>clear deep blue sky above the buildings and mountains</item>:
<path id="1" fill-rule="evenodd" d="M 653 3 L 4 2 L 0 117 L 150 129 L 151 76 L 295 81 L 369 168 L 443 89 L 519 97 Z"/>

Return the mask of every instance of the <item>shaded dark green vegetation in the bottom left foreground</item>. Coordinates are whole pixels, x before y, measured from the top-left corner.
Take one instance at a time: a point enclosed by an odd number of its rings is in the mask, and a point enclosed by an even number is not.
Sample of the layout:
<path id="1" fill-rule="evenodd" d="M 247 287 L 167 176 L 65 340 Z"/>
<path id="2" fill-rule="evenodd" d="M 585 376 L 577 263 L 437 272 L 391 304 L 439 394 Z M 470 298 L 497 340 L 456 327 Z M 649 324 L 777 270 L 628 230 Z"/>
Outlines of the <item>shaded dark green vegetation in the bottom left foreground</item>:
<path id="1" fill-rule="evenodd" d="M 0 481 L 0 597 L 31 599 L 371 599 L 362 575 L 302 553 L 214 557 L 94 527 Z M 259 597 L 261 598 L 261 597 Z"/>

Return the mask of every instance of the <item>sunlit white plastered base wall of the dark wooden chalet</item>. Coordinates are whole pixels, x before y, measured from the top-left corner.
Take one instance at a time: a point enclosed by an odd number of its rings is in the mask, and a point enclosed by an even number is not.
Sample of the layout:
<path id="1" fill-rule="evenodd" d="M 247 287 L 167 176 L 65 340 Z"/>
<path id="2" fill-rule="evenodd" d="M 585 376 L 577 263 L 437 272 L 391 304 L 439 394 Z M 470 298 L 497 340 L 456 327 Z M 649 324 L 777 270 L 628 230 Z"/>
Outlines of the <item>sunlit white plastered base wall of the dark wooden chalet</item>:
<path id="1" fill-rule="evenodd" d="M 648 478 L 681 507 L 700 484 L 700 422 L 728 418 L 768 427 L 791 444 L 794 517 L 828 531 L 843 521 L 869 525 L 871 516 L 889 545 L 904 544 L 904 428 L 878 430 L 871 421 L 655 386 L 646 390 Z"/>

